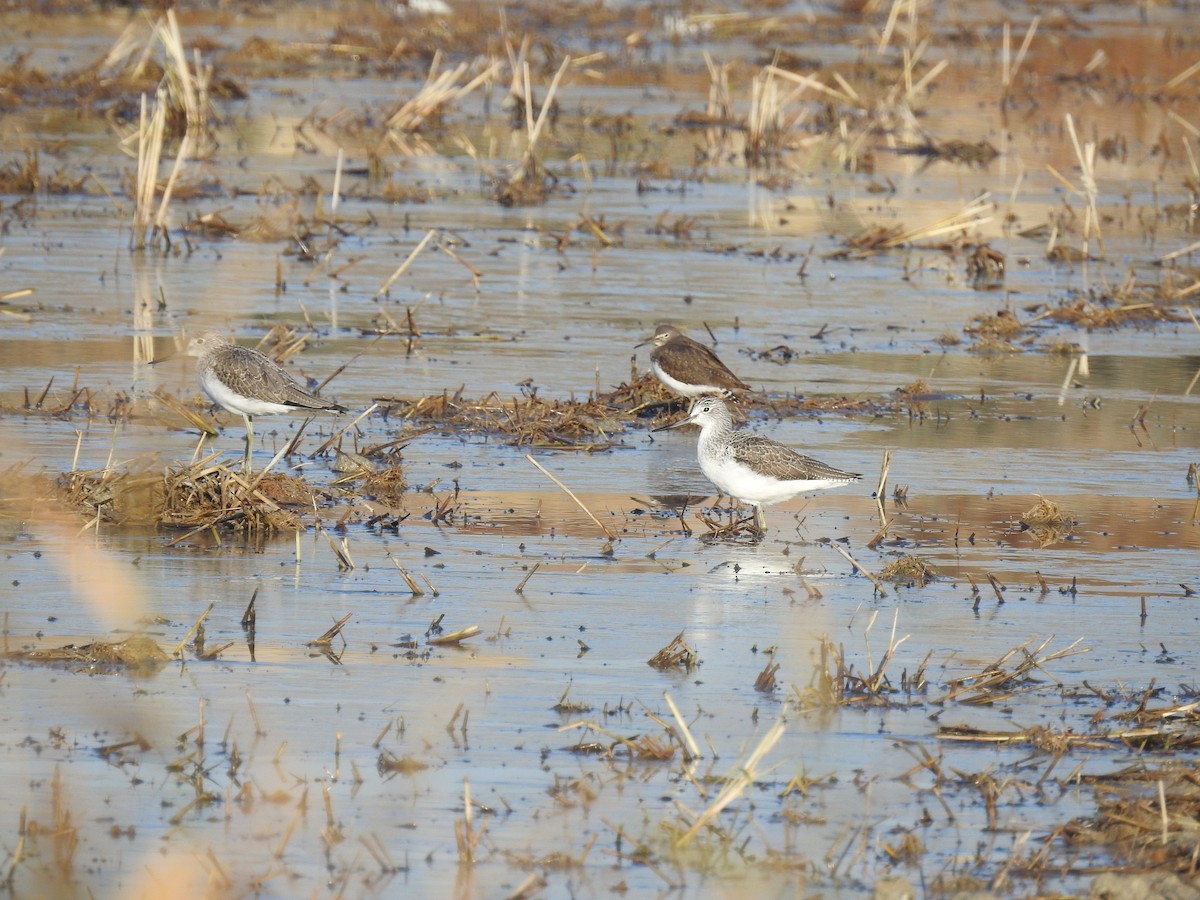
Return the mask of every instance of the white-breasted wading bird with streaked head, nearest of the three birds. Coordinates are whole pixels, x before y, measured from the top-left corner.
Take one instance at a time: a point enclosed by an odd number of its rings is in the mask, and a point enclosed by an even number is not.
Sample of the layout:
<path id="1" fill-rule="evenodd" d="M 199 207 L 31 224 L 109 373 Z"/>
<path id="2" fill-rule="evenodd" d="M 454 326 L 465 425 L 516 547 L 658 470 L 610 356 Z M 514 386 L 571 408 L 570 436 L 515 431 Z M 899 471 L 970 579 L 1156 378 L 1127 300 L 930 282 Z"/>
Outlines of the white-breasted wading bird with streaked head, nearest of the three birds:
<path id="1" fill-rule="evenodd" d="M 698 425 L 700 470 L 721 491 L 755 508 L 755 528 L 767 530 L 762 508 L 805 491 L 840 487 L 859 479 L 751 431 L 736 431 L 728 407 L 718 397 L 697 397 L 688 416 L 654 431 Z"/>

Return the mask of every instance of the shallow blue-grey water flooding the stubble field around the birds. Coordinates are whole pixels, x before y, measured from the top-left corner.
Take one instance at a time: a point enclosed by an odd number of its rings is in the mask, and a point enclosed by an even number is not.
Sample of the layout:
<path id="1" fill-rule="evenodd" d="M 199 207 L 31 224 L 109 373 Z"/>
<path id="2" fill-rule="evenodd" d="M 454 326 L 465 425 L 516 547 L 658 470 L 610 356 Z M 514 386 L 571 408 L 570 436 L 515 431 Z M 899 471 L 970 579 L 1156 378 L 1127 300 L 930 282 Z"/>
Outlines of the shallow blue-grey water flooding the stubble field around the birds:
<path id="1" fill-rule="evenodd" d="M 319 7 L 300 22 L 194 12 L 182 25 L 185 37 L 222 35 L 232 46 L 254 34 L 329 44 L 340 12 Z M 487 7 L 473 14 L 487 19 Z M 953 65 L 924 101 L 920 132 L 910 122 L 870 136 L 874 172 L 863 173 L 803 143 L 780 161 L 787 185 L 778 190 L 757 184 L 762 173 L 737 155 L 692 169 L 703 133 L 673 125 L 680 110 L 704 107 L 702 49 L 743 60 L 734 83 L 744 106 L 748 60 L 758 56 L 750 38 L 716 32 L 672 43 L 658 17 L 646 53 L 665 66 L 661 78 L 637 68 L 568 78 L 547 162 L 570 193 L 520 209 L 487 198 L 488 172 L 451 138 L 470 139 L 488 169 L 514 161 L 521 145 L 497 112 L 497 89 L 490 118 L 473 97 L 454 114 L 461 121 L 431 137 L 440 155 L 390 158 L 395 180 L 426 188 L 427 203 L 385 200 L 346 175 L 344 233 L 318 263 L 300 262 L 286 238 L 181 229 L 214 211 L 245 224 L 292 202 L 310 216 L 317 197 L 295 190 L 308 178 L 328 210 L 338 146 L 348 166 L 361 166 L 370 136 L 296 126 L 314 109 L 378 119 L 419 83 L 412 73 L 380 78 L 330 50 L 323 64 L 336 78 L 316 68 L 239 74 L 250 98 L 226 104 L 221 149 L 190 169 L 211 187 L 173 204 L 178 252 L 168 253 L 127 250 L 132 162 L 109 128 L 29 106 L 7 113 L 0 134 L 12 158 L 23 142 L 61 138 L 43 170 L 95 174 L 85 192 L 40 194 L 24 209 L 19 196 L 4 198 L 4 288 L 35 293 L 0 306 L 0 462 L 30 476 L 157 473 L 214 449 L 235 461 L 236 416 L 218 413 L 224 427 L 200 451 L 194 427 L 154 397 L 166 390 L 204 410 L 193 362 L 167 359 L 185 330 L 220 328 L 253 343 L 275 324 L 306 331 L 311 323 L 314 340 L 289 366 L 320 382 L 349 361 L 323 395 L 356 414 L 377 400 L 460 388 L 468 402 L 494 392 L 496 406 L 522 391 L 604 394 L 644 370 L 646 349 L 635 344 L 660 320 L 715 341 L 769 397 L 844 398 L 842 409 L 782 418 L 760 409 L 749 427 L 864 473 L 852 487 L 772 508 L 757 544 L 702 539 L 692 514 L 709 508 L 712 487 L 695 463 L 695 434 L 652 434 L 638 424 L 616 431 L 612 450 L 553 452 L 511 446 L 502 433 L 374 414 L 343 446 L 407 442 L 410 488 L 401 505 L 330 487 L 319 529 L 257 542 L 90 527 L 6 481 L 5 649 L 140 629 L 169 652 L 192 640 L 210 604 L 203 643 L 229 644 L 215 660 L 188 647 L 186 662 L 142 674 L 5 664 L 0 767 L 11 787 L 0 847 L 13 889 L 492 896 L 538 890 L 527 883 L 534 878 L 553 895 L 791 896 L 868 894 L 877 880 L 901 876 L 923 893 L 1086 890 L 1111 859 L 1103 848 L 1064 846 L 1054 829 L 1096 810 L 1097 788 L 1082 776 L 1151 764 L 1154 755 L 1097 739 L 1060 758 L 938 728 L 1116 733 L 1116 716 L 1151 685 L 1152 706 L 1194 696 L 1200 533 L 1187 473 L 1200 443 L 1190 390 L 1200 335 L 1182 312 L 1190 294 L 1165 305 L 1177 319 L 1168 323 L 1090 330 L 1040 319 L 1022 335 L 1037 340 L 1016 353 L 973 352 L 964 329 L 1001 308 L 1028 320 L 1073 298 L 1103 306 L 1130 271 L 1144 284 L 1194 280 L 1188 254 L 1157 260 L 1194 240 L 1186 216 L 1163 210 L 1194 199 L 1184 186 L 1190 138 L 1178 120 L 1196 120 L 1196 100 L 1187 90 L 1146 97 L 1195 48 L 1178 36 L 1183 12 L 1145 14 L 1136 22 L 1124 7 L 1097 7 L 1090 30 L 1048 18 L 1007 120 L 995 103 L 998 17 L 984 17 L 986 47 L 935 31 L 937 53 Z M 48 67 L 71 65 L 64 49 L 102 55 L 124 25 L 116 14 L 64 14 L 56 28 L 4 16 L 18 31 L 38 26 L 30 59 Z M 769 17 L 757 18 L 767 29 Z M 628 19 L 618 34 L 644 26 L 635 10 Z M 1018 42 L 1027 22 L 1014 19 Z M 822 14 L 821 35 L 838 29 L 844 42 L 821 44 L 829 60 L 863 59 L 856 42 L 877 40 Z M 553 40 L 575 55 L 587 48 L 564 34 Z M 595 44 L 623 40 L 611 37 Z M 1080 76 L 1102 47 L 1133 73 L 1136 101 L 1118 96 L 1111 64 L 1094 79 Z M 1108 103 L 1080 106 L 1080 97 Z M 616 154 L 580 124 L 625 112 L 635 137 Z M 1018 232 L 1082 215 L 1081 199 L 1046 169 L 1079 184 L 1064 112 L 1081 139 L 1120 136 L 1128 154 L 1097 161 L 1103 258 L 1056 264 L 1044 236 Z M 920 133 L 986 137 L 1001 156 L 968 167 L 894 152 L 898 139 Z M 671 172 L 640 192 L 638 166 L 660 160 Z M 980 191 L 994 215 L 973 233 L 1007 256 L 1001 289 L 974 289 L 964 253 L 934 240 L 827 258 L 862 226 L 936 222 Z M 584 214 L 602 222 L 611 245 L 578 226 Z M 672 233 L 672 223 L 683 224 Z M 379 295 L 430 228 L 452 235 L 455 252 L 481 274 L 431 250 Z M 1068 240 L 1078 244 L 1078 233 Z M 409 312 L 419 338 L 377 340 L 376 330 Z M 1050 347 L 1055 338 L 1075 347 Z M 95 397 L 92 415 L 70 403 L 80 389 Z M 108 415 L 121 395 L 131 412 Z M 307 455 L 347 421 L 312 421 L 300 452 L 278 468 L 328 485 L 330 460 Z M 256 466 L 298 425 L 256 422 Z M 890 524 L 871 547 L 883 527 L 872 492 L 884 450 Z M 896 487 L 907 488 L 902 502 Z M 455 515 L 433 524 L 432 511 L 454 492 Z M 686 497 L 691 534 L 677 516 Z M 1020 523 L 1039 497 L 1075 522 L 1069 538 L 1045 547 Z M 344 541 L 352 569 L 338 565 L 331 541 Z M 835 544 L 872 572 L 912 554 L 938 577 L 925 587 L 889 583 L 883 595 Z M 251 641 L 240 623 L 252 596 Z M 328 653 L 311 644 L 344 616 Z M 461 646 L 430 644 L 434 623 L 480 632 Z M 698 667 L 648 666 L 679 634 Z M 880 695 L 887 703 L 818 701 L 823 636 L 858 674 L 876 671 L 894 646 Z M 954 695 L 955 679 L 1000 660 L 1012 666 L 1025 652 L 1043 665 L 1010 695 L 990 703 Z M 1044 659 L 1057 652 L 1067 655 Z M 770 662 L 776 686 L 756 690 Z M 925 683 L 912 685 L 918 672 Z M 685 758 L 680 720 L 696 758 Z M 718 827 L 677 844 L 776 722 L 785 731 L 751 767 L 755 784 L 713 820 Z M 643 738 L 670 758 L 653 758 Z M 925 755 L 938 774 L 918 766 Z M 1049 869 L 1034 865 L 1043 846 Z"/>

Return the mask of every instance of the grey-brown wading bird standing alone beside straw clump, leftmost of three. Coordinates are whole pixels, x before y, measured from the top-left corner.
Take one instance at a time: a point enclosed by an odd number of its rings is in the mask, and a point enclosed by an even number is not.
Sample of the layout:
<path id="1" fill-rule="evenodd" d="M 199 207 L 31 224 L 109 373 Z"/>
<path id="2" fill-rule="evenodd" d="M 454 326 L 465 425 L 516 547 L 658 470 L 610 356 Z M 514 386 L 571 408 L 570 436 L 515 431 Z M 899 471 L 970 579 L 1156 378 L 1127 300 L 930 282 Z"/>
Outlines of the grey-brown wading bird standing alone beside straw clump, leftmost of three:
<path id="1" fill-rule="evenodd" d="M 274 415 L 305 409 L 331 409 L 344 413 L 346 407 L 314 397 L 265 353 L 235 344 L 217 331 L 193 337 L 185 353 L 198 356 L 200 388 L 212 402 L 246 422 L 245 469 L 250 472 L 250 451 L 256 415 Z"/>

